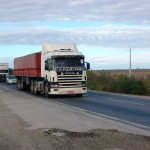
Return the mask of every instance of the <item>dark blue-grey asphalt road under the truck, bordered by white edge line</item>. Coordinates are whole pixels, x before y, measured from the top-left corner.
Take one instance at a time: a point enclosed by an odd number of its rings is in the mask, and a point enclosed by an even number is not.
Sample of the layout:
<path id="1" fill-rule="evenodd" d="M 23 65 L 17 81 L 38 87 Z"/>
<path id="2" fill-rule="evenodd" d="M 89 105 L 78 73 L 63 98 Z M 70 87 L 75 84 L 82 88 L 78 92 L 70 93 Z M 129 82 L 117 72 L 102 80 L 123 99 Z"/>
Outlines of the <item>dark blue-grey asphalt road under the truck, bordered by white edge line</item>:
<path id="1" fill-rule="evenodd" d="M 15 85 L 1 84 L 16 90 Z M 41 98 L 51 101 L 51 98 L 46 99 L 42 96 Z M 57 96 L 52 97 L 52 99 L 55 102 L 83 109 L 95 115 L 150 130 L 150 98 L 147 97 L 89 91 L 81 98 Z"/>

